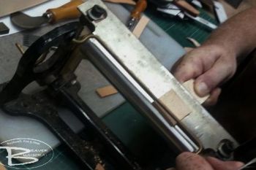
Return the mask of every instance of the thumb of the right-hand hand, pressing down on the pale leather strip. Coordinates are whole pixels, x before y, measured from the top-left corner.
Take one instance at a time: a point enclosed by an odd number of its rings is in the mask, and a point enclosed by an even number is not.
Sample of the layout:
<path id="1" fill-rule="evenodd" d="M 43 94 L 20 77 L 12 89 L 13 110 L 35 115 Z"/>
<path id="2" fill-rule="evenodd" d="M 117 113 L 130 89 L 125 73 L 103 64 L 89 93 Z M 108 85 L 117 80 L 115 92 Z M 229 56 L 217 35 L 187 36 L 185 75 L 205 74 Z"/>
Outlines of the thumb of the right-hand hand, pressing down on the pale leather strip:
<path id="1" fill-rule="evenodd" d="M 229 79 L 235 72 L 236 66 L 231 61 L 217 60 L 214 66 L 195 80 L 195 91 L 199 96 L 206 96 L 214 88 Z"/>

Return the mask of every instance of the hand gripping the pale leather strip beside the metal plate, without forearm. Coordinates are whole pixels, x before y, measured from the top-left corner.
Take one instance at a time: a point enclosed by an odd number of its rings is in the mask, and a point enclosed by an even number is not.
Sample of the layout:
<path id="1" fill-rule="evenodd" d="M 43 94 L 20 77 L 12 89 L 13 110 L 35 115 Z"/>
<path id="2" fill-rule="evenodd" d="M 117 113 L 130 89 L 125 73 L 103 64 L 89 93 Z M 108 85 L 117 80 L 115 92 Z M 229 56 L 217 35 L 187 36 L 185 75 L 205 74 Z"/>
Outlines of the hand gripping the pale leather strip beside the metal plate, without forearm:
<path id="1" fill-rule="evenodd" d="M 184 55 L 172 72 L 180 82 L 195 79 L 195 92 L 202 97 L 210 94 L 205 104 L 212 105 L 221 92 L 219 85 L 236 72 L 236 54 L 218 45 L 202 45 Z"/>

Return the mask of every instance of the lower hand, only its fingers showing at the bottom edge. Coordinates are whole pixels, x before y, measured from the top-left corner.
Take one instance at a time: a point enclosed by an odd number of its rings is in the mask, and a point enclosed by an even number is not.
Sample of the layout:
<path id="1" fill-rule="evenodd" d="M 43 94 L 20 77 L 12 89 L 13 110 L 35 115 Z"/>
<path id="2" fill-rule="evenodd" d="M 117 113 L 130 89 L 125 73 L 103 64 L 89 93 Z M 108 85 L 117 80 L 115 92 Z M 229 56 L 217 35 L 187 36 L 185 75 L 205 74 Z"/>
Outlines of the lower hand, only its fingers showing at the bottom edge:
<path id="1" fill-rule="evenodd" d="M 192 152 L 183 152 L 176 158 L 176 170 L 238 170 L 244 163 L 203 158 Z"/>

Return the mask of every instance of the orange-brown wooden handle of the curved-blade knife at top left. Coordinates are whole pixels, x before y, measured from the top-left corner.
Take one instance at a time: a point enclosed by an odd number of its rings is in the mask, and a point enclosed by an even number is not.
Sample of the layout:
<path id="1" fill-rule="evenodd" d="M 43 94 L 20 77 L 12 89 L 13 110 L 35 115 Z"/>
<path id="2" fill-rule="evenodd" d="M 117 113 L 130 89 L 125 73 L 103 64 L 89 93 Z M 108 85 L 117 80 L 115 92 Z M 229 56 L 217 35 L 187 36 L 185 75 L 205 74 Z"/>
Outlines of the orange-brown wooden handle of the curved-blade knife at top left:
<path id="1" fill-rule="evenodd" d="M 57 23 L 60 20 L 67 20 L 78 18 L 80 12 L 78 11 L 78 5 L 83 4 L 82 0 L 73 0 L 61 7 L 48 9 L 46 14 L 50 14 L 50 23 Z"/>

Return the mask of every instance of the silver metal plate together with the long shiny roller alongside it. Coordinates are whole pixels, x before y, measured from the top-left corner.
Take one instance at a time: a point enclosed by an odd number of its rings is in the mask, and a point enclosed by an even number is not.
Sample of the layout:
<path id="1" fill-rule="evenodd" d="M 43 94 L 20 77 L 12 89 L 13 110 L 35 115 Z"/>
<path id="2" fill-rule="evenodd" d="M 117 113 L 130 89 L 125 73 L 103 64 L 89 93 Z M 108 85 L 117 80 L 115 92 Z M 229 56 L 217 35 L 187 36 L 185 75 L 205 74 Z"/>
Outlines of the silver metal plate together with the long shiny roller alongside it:
<path id="1" fill-rule="evenodd" d="M 157 103 L 160 109 L 154 107 L 157 110 L 155 115 L 151 112 L 145 112 L 146 109 L 144 111 L 141 109 L 141 111 L 170 144 L 174 144 L 179 151 L 189 150 L 192 152 L 199 152 L 203 148 L 217 150 L 217 146 L 222 139 L 229 139 L 235 146 L 237 145 L 236 140 L 211 117 L 206 109 L 200 106 L 195 98 L 154 58 L 154 55 L 148 52 L 146 47 L 132 35 L 102 1 L 86 1 L 78 8 L 87 18 L 87 11 L 91 10 L 94 5 L 99 5 L 102 9 L 105 9 L 108 15 L 103 20 L 91 20 L 94 25 L 93 34 L 95 37 L 91 37 L 81 46 L 83 54 L 90 58 L 92 63 L 113 82 L 113 85 L 116 85 L 118 90 L 126 98 L 129 98 L 129 101 L 133 102 L 135 96 L 129 96 L 131 90 L 129 89 L 129 92 L 127 92 L 127 87 L 120 85 L 122 77 L 124 81 L 132 85 L 132 88 L 137 90 L 139 96 L 143 96 L 141 101 L 144 100 L 153 107 Z M 90 23 L 89 19 L 87 22 Z M 91 50 L 89 50 L 90 48 Z M 116 74 L 108 74 L 113 70 L 116 70 Z M 136 85 L 134 81 L 137 82 Z M 192 110 L 182 120 L 177 120 L 172 113 L 169 113 L 178 122 L 176 124 L 178 128 L 174 128 L 173 121 L 164 116 L 163 110 L 166 111 L 166 109 L 158 102 L 158 99 L 169 90 L 175 90 L 189 109 Z M 182 130 L 179 131 L 179 128 Z M 172 129 L 176 129 L 178 135 Z M 185 134 L 185 136 L 181 139 L 179 136 L 182 136 L 182 134 Z M 173 136 L 175 137 L 173 138 Z M 189 145 L 185 144 L 186 142 L 189 142 Z M 196 147 L 194 144 L 196 144 Z"/>

